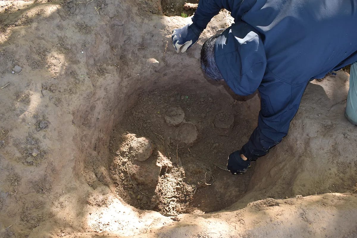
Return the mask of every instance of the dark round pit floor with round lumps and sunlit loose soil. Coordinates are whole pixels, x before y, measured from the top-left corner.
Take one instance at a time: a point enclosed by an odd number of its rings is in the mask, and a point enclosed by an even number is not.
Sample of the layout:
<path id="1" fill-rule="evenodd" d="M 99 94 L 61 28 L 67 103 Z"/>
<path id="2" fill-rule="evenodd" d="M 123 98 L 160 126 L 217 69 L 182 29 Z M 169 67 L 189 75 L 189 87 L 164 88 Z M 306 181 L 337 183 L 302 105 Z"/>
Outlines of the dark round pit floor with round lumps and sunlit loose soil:
<path id="1" fill-rule="evenodd" d="M 236 202 L 254 163 L 241 176 L 215 164 L 225 166 L 229 153 L 239 150 L 254 129 L 255 120 L 241 113 L 248 104 L 212 91 L 208 83 L 141 93 L 111 137 L 110 174 L 126 191 L 119 195 L 134 207 L 172 215 L 219 211 Z M 148 145 L 136 143 L 140 138 Z"/>

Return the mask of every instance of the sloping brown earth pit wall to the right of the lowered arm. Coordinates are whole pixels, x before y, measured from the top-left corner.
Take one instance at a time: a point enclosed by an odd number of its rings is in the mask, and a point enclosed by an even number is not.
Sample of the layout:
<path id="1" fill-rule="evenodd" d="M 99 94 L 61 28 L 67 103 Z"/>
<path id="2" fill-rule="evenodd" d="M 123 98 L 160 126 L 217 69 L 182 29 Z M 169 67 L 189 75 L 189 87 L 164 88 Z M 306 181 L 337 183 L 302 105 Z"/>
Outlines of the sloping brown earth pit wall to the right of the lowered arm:
<path id="1" fill-rule="evenodd" d="M 307 86 L 288 136 L 258 159 L 242 201 L 354 190 L 357 131 L 344 116 L 348 80 L 341 70 Z"/>

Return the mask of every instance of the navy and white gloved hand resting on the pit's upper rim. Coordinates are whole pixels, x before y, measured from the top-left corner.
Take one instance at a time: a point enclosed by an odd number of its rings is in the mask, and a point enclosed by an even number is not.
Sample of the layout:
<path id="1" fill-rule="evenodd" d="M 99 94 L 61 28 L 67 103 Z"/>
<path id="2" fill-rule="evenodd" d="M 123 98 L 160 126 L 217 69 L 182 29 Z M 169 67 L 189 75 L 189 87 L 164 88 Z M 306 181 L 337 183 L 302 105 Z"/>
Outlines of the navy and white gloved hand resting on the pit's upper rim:
<path id="1" fill-rule="evenodd" d="M 188 48 L 196 43 L 203 30 L 198 29 L 195 24 L 188 24 L 172 31 L 172 45 L 177 53 L 185 53 Z"/>

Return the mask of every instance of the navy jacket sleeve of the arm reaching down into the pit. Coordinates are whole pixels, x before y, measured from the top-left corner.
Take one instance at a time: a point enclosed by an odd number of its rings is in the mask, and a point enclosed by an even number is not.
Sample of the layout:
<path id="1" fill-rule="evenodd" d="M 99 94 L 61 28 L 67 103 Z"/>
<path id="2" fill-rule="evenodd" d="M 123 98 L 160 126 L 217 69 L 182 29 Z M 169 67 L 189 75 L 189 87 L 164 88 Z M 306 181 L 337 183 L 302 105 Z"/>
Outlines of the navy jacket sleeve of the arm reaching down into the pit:
<path id="1" fill-rule="evenodd" d="M 261 110 L 258 126 L 241 152 L 250 160 L 264 156 L 285 137 L 307 83 L 290 85 L 282 81 L 262 82 L 258 90 Z"/>

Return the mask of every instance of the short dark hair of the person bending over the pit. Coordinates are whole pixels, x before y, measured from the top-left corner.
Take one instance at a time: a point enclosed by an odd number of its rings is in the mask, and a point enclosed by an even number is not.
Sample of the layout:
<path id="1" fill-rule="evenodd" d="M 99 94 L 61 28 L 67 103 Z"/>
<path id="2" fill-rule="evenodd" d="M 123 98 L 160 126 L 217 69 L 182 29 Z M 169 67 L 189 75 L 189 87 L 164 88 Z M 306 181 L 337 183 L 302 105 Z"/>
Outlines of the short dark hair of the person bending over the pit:
<path id="1" fill-rule="evenodd" d="M 201 50 L 201 68 L 208 77 L 215 81 L 223 80 L 215 61 L 215 42 L 218 36 L 220 35 L 214 35 L 206 40 Z"/>

